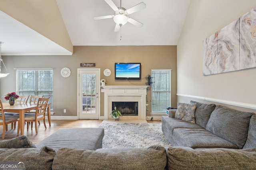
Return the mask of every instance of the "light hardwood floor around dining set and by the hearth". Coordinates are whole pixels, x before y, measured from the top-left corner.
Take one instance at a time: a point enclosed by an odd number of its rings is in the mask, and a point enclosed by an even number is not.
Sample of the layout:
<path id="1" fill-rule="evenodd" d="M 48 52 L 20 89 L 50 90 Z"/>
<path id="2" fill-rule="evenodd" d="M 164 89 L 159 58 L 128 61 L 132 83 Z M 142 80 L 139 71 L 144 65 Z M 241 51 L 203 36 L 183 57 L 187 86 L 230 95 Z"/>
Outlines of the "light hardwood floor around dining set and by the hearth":
<path id="1" fill-rule="evenodd" d="M 82 128 L 82 127 L 99 127 L 100 123 L 103 120 L 52 120 L 51 126 L 49 126 L 48 121 L 46 120 L 46 129 L 44 128 L 43 121 L 40 121 L 41 124 L 38 125 L 38 133 L 36 134 L 36 129 L 33 127 L 27 130 L 27 125 L 25 125 L 24 135 L 26 135 L 34 144 L 42 141 L 44 138 L 52 135 L 54 132 L 58 131 L 62 128 Z M 158 123 L 161 121 L 147 121 L 148 123 Z M 17 135 L 17 127 L 16 129 L 11 129 L 11 125 L 8 125 L 8 131 L 5 133 L 5 138 L 2 139 L 2 131 L 3 127 L 0 126 L 0 141 L 12 139 L 18 137 Z"/>

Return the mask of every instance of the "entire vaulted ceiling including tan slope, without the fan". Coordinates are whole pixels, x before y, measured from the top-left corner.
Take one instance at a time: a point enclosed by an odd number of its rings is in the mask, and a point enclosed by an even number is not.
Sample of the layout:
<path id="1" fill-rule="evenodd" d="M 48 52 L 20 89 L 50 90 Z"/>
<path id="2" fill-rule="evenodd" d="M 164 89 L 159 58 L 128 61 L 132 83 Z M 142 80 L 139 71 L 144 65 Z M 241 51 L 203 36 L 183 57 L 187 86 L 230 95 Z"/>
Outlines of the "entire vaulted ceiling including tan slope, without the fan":
<path id="1" fill-rule="evenodd" d="M 117 7 L 120 0 L 112 0 Z M 177 45 L 190 0 L 122 0 L 129 9 L 146 8 L 114 32 L 114 15 L 104 0 L 0 0 L 2 55 L 72 55 L 72 46 Z"/>

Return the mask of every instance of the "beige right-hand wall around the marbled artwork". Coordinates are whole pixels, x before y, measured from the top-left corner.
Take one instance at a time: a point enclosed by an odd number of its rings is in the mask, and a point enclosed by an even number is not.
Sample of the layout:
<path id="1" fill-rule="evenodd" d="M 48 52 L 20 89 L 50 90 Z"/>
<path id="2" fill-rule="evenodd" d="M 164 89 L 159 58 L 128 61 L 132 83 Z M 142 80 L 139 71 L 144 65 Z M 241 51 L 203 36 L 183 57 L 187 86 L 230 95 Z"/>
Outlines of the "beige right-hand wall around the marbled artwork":
<path id="1" fill-rule="evenodd" d="M 228 101 L 256 108 L 256 68 L 202 75 L 202 41 L 255 7 L 255 0 L 190 2 L 177 46 L 177 93 L 181 94 L 178 102 L 210 98 L 213 102 L 220 101 L 221 105 Z M 196 96 L 197 99 L 188 96 Z M 236 109 L 248 110 L 242 107 Z M 251 111 L 256 112 L 255 109 Z"/>

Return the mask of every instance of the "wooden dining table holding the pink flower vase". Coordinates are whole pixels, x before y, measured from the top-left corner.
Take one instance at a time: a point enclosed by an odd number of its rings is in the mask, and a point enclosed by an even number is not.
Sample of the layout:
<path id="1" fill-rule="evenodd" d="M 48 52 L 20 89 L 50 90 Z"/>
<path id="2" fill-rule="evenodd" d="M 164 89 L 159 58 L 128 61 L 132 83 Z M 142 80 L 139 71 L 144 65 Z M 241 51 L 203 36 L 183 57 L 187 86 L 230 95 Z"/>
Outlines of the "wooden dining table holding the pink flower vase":
<path id="1" fill-rule="evenodd" d="M 20 116 L 20 125 L 25 124 L 25 113 L 30 110 L 35 110 L 37 104 L 14 104 L 10 105 L 9 103 L 2 103 L 4 112 L 11 112 L 11 113 L 19 113 Z M 48 115 L 48 122 L 51 125 L 51 113 L 50 113 L 50 104 L 47 104 L 47 115 Z M 24 126 L 20 126 L 20 135 L 24 135 Z"/>

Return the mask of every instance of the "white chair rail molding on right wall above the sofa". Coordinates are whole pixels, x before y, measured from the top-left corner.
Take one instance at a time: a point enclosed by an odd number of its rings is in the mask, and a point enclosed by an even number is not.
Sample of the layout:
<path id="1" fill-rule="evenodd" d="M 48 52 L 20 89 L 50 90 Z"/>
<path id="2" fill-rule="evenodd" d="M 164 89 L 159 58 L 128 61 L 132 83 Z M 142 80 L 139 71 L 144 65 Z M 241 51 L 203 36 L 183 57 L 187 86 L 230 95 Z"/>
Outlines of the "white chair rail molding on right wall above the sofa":
<path id="1" fill-rule="evenodd" d="M 222 99 L 214 99 L 214 98 L 206 98 L 206 97 L 201 97 L 201 96 L 192 96 L 192 95 L 187 95 L 187 94 L 176 94 L 177 96 L 182 96 L 182 97 L 187 97 L 187 98 L 194 98 L 194 99 L 200 99 L 200 100 L 205 100 L 209 102 L 216 102 L 216 103 L 221 103 L 221 104 L 228 104 L 231 106 L 238 106 L 238 107 L 244 107 L 247 109 L 256 109 L 256 104 L 249 104 L 249 103 L 242 103 L 242 102 L 234 102 L 230 100 L 222 100 Z"/>

